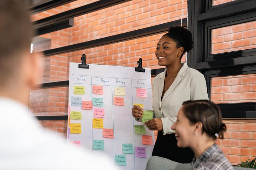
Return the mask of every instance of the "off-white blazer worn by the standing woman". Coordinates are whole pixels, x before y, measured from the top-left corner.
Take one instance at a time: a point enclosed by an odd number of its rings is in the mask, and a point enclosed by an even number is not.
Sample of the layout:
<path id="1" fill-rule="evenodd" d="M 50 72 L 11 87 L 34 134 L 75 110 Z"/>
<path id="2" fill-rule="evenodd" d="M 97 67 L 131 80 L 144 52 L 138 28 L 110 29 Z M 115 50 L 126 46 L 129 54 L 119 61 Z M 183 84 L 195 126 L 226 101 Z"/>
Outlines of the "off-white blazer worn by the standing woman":
<path id="1" fill-rule="evenodd" d="M 154 116 L 162 119 L 163 135 L 174 133 L 171 126 L 177 120 L 176 116 L 183 101 L 208 100 L 204 75 L 189 68 L 186 63 L 182 64 L 172 85 L 164 93 L 162 101 L 166 69 L 153 79 L 152 108 Z"/>

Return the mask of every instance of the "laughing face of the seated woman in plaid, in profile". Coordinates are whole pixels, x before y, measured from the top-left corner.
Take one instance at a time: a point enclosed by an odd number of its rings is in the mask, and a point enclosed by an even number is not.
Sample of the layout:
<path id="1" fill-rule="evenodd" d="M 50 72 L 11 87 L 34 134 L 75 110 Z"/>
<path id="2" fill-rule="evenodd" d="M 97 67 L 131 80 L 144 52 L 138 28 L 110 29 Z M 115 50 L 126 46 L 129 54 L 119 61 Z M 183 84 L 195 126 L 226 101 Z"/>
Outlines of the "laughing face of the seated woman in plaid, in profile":
<path id="1" fill-rule="evenodd" d="M 193 142 L 195 127 L 191 124 L 188 118 L 184 115 L 183 106 L 180 108 L 177 121 L 172 124 L 171 129 L 175 130 L 175 137 L 177 140 L 177 146 L 185 148 L 190 147 Z"/>

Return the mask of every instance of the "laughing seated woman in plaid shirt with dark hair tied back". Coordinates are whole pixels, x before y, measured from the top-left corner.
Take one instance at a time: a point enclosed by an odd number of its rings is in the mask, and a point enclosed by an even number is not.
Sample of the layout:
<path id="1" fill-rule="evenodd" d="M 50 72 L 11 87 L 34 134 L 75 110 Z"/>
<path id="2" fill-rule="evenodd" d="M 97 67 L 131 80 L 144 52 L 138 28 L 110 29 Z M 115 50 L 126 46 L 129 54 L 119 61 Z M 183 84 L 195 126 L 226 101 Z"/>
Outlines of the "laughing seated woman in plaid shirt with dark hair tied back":
<path id="1" fill-rule="evenodd" d="M 234 169 L 215 143 L 226 131 L 218 105 L 208 100 L 185 101 L 171 128 L 178 147 L 190 147 L 195 153 L 193 169 Z"/>

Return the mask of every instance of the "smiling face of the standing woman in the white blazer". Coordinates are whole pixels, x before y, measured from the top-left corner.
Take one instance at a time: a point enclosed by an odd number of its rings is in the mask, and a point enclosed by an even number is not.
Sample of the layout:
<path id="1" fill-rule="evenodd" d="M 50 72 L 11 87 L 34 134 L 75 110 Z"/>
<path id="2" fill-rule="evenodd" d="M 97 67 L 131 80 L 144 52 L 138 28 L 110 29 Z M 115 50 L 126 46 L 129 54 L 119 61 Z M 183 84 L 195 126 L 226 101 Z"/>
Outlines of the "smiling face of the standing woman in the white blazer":
<path id="1" fill-rule="evenodd" d="M 157 43 L 156 58 L 158 65 L 169 66 L 176 63 L 180 63 L 180 55 L 182 52 L 180 48 L 177 48 L 176 42 L 168 35 L 164 35 Z"/>

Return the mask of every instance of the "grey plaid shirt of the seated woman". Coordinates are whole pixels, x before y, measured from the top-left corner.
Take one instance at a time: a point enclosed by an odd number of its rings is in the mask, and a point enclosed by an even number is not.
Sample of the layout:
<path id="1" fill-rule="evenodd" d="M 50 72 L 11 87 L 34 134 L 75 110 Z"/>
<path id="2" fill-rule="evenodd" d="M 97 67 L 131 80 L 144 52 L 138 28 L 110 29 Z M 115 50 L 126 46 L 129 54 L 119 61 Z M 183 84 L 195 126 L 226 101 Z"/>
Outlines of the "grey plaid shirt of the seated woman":
<path id="1" fill-rule="evenodd" d="M 216 143 L 207 149 L 197 160 L 194 156 L 191 166 L 196 170 L 234 170 L 234 167 L 230 164 Z"/>

